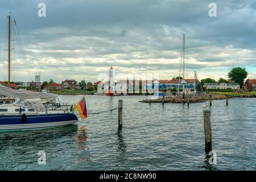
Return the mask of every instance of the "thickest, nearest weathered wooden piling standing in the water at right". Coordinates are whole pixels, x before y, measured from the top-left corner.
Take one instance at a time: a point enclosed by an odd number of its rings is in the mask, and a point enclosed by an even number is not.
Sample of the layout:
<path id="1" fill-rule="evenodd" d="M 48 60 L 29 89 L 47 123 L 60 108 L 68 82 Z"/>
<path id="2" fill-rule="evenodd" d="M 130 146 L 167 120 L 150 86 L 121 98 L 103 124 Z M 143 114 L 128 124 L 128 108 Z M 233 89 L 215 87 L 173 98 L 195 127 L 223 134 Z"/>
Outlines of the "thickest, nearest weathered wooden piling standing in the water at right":
<path id="1" fill-rule="evenodd" d="M 205 152 L 212 151 L 212 126 L 210 124 L 210 110 L 204 110 L 204 139 Z"/>

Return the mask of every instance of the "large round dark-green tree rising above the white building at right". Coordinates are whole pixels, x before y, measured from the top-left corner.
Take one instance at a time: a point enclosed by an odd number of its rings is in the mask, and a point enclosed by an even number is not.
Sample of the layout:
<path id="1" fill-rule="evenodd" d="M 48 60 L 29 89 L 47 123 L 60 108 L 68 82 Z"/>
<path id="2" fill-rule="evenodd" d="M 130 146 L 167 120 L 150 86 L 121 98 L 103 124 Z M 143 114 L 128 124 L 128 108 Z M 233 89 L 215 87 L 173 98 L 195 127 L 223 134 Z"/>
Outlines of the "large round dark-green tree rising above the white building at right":
<path id="1" fill-rule="evenodd" d="M 240 86 L 243 85 L 243 82 L 245 81 L 245 78 L 247 76 L 248 76 L 248 72 L 246 71 L 245 68 L 241 68 L 241 67 L 232 68 L 228 73 L 228 77 L 234 82 L 240 84 Z"/>

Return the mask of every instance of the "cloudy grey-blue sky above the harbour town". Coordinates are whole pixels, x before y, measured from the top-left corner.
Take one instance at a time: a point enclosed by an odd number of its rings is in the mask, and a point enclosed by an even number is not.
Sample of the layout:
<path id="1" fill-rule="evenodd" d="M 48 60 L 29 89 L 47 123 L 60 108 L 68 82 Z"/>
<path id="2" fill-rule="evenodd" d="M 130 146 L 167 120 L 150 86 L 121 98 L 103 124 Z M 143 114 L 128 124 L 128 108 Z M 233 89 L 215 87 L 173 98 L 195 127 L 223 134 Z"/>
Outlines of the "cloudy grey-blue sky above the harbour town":
<path id="1" fill-rule="evenodd" d="M 38 16 L 39 3 L 46 16 Z M 209 16 L 216 3 L 217 16 Z M 15 17 L 23 46 L 12 52 L 13 81 L 67 78 L 97 81 L 115 73 L 179 76 L 183 33 L 187 76 L 228 78 L 243 67 L 256 78 L 256 2 L 215 0 L 1 0 L 0 80 L 7 77 L 7 15 Z M 27 69 L 24 66 L 27 65 Z M 28 72 L 27 72 L 28 71 Z"/>

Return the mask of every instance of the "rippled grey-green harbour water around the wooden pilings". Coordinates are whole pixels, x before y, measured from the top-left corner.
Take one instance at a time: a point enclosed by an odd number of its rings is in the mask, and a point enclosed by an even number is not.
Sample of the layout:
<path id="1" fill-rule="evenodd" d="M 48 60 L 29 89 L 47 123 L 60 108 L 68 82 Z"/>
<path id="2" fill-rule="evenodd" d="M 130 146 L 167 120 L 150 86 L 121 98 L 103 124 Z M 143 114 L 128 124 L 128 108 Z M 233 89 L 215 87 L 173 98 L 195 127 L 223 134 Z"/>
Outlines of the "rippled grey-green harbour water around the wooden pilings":
<path id="1" fill-rule="evenodd" d="M 81 96 L 60 96 L 75 103 Z M 86 96 L 89 111 L 123 100 L 123 129 L 117 110 L 88 115 L 78 125 L 0 133 L 0 169 L 6 170 L 255 170 L 256 99 L 213 101 L 213 150 L 205 159 L 202 103 L 146 104 L 145 96 Z M 46 165 L 38 152 L 46 152 Z"/>

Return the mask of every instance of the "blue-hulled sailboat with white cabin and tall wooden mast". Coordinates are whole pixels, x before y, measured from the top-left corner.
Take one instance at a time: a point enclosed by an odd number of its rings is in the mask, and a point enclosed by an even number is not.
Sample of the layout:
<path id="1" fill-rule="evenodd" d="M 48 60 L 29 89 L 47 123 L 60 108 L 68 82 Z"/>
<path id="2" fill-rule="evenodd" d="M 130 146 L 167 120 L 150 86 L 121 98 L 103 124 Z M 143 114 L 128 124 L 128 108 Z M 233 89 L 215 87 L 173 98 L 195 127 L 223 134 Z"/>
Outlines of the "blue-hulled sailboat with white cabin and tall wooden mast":
<path id="1" fill-rule="evenodd" d="M 0 131 L 42 129 L 78 122 L 73 106 L 61 104 L 57 95 L 10 88 L 11 15 L 9 19 L 8 84 L 0 84 Z"/>

